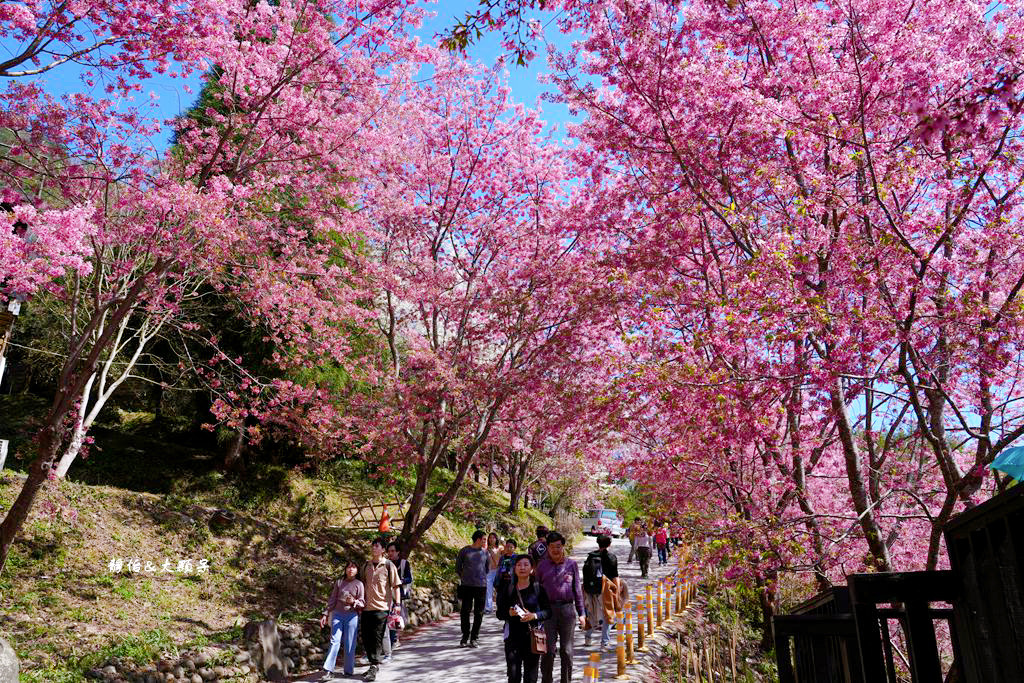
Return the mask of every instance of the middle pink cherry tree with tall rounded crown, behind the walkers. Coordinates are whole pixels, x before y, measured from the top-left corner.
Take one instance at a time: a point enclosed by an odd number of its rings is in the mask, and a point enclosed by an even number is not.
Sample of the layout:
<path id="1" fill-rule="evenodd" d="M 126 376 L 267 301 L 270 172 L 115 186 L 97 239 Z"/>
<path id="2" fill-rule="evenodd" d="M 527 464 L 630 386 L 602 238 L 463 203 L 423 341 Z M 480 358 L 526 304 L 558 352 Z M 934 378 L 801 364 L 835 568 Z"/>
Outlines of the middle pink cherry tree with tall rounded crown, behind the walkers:
<path id="1" fill-rule="evenodd" d="M 607 328 L 594 261 L 562 214 L 557 150 L 500 76 L 439 55 L 393 114 L 406 135 L 381 141 L 393 155 L 365 200 L 387 352 L 343 420 L 368 458 L 413 466 L 401 532 L 415 547 L 496 427 L 597 357 L 588 344 Z M 454 477 L 430 500 L 445 463 Z"/>

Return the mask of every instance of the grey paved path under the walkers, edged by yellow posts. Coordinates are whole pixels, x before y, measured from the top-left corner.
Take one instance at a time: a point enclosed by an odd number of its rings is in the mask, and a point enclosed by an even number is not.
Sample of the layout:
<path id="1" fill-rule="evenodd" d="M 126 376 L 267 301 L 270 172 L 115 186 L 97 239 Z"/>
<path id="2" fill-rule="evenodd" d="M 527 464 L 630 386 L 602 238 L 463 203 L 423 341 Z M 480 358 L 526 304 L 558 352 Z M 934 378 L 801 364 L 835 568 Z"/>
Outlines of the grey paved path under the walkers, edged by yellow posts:
<path id="1" fill-rule="evenodd" d="M 588 537 L 572 553 L 572 558 L 583 568 L 583 559 L 587 553 L 597 548 L 593 538 Z M 645 582 L 640 581 L 640 564 L 634 560 L 627 564 L 630 544 L 626 539 L 612 542 L 611 550 L 618 556 L 618 572 L 627 582 L 630 595 L 636 595 Z M 658 579 L 675 568 L 675 557 L 669 558 L 669 564 L 657 566 L 657 554 L 651 558 L 649 579 Z M 394 652 L 388 664 L 382 665 L 377 675 L 379 683 L 457 683 L 471 681 L 472 683 L 501 683 L 507 680 L 505 674 L 505 646 L 502 641 L 503 623 L 494 614 L 484 614 L 480 628 L 480 646 L 476 649 L 459 647 L 461 630 L 458 614 L 438 624 L 423 627 L 416 633 L 401 639 L 401 647 Z M 601 656 L 601 680 L 612 680 L 615 675 L 615 632 L 612 631 L 612 649 Z M 599 630 L 593 632 L 593 645 L 584 647 L 584 634 L 579 629 L 575 636 L 575 666 L 573 681 L 583 680 L 583 668 L 591 652 L 599 650 L 601 635 Z M 340 667 L 340 663 L 339 663 Z M 368 664 L 364 658 L 356 659 L 355 679 L 366 672 Z M 340 668 L 339 668 L 340 671 Z M 345 679 L 340 673 L 325 677 L 323 672 L 304 676 L 299 681 L 341 682 Z M 555 681 L 558 680 L 558 657 L 555 657 Z"/>

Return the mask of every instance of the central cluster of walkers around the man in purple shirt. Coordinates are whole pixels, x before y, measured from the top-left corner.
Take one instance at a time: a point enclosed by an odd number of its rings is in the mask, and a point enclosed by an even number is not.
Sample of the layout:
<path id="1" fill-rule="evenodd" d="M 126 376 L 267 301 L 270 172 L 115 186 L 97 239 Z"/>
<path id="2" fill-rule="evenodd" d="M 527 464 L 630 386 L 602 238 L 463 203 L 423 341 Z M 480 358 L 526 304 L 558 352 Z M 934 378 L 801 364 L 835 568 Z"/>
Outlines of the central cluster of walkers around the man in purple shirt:
<path id="1" fill-rule="evenodd" d="M 598 538 L 598 550 L 587 556 L 581 572 L 558 531 L 539 526 L 537 540 L 524 553 L 517 552 L 512 539 L 501 544 L 496 535 L 485 536 L 476 531 L 456 560 L 460 646 L 477 646 L 483 612 L 494 605 L 496 616 L 505 622 L 509 683 L 537 683 L 539 674 L 543 683 L 553 683 L 556 652 L 560 681 L 568 683 L 577 630 L 584 630 L 590 645 L 593 631 L 600 628 L 606 649 L 614 613 L 627 599 L 617 558 L 608 550 L 611 539 Z"/>

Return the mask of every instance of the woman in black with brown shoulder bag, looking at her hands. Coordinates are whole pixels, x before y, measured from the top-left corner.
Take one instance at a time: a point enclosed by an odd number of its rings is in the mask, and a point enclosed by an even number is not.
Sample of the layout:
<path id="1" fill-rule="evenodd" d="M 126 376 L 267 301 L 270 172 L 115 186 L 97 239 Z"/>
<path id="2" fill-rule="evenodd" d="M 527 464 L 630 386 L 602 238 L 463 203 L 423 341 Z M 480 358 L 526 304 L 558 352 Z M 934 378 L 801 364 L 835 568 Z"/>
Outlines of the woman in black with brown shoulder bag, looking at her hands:
<path id="1" fill-rule="evenodd" d="M 548 594 L 534 578 L 534 558 L 517 555 L 513 581 L 498 592 L 496 614 L 505 622 L 505 665 L 509 683 L 537 683 L 541 655 L 534 652 L 530 629 L 548 618 Z"/>

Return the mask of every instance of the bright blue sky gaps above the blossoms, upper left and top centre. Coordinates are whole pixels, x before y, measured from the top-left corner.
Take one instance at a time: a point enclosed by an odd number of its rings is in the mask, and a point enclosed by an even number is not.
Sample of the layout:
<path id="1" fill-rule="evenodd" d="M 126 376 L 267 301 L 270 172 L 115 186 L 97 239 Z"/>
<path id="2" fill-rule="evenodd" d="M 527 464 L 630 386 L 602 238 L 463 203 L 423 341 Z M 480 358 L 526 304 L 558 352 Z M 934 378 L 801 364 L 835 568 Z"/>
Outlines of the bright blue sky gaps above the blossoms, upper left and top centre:
<path id="1" fill-rule="evenodd" d="M 453 26 L 456 17 L 464 16 L 465 13 L 478 6 L 478 0 L 440 0 L 436 3 L 424 5 L 428 10 L 436 13 L 436 16 L 428 19 L 417 32 L 424 42 L 433 42 L 436 34 L 441 33 Z M 556 15 L 553 12 L 542 12 L 537 14 L 545 28 L 545 40 L 552 41 L 558 47 L 567 47 L 570 37 L 563 36 L 555 26 Z M 9 56 L 14 54 L 17 45 L 9 41 L 0 41 L 0 55 Z M 501 46 L 500 36 L 497 34 L 486 34 L 478 44 L 470 47 L 469 58 L 482 61 L 486 65 L 495 63 L 505 52 Z M 538 56 L 527 67 L 517 67 L 514 58 L 506 60 L 509 72 L 509 84 L 515 99 L 523 102 L 527 106 L 537 106 L 542 93 L 551 90 L 550 86 L 538 83 L 538 76 L 547 70 L 545 59 L 546 50 L 543 45 L 539 46 Z M 85 85 L 79 78 L 80 72 L 74 65 L 62 65 L 51 72 L 48 72 L 39 80 L 43 83 L 44 89 L 53 95 L 66 94 L 69 92 L 81 92 Z M 157 76 L 146 81 L 140 99 L 145 99 L 150 93 L 157 96 L 156 115 L 163 119 L 171 119 L 185 111 L 196 101 L 202 83 L 202 75 L 196 74 L 187 80 L 173 79 L 168 76 Z M 185 86 L 191 88 L 188 93 Z M 95 94 L 101 91 L 96 89 Z M 570 119 L 567 110 L 560 104 L 543 102 L 544 119 L 549 126 L 558 126 Z M 170 131 L 165 130 L 162 136 L 152 140 L 152 144 L 162 151 L 166 148 L 170 140 Z"/>

